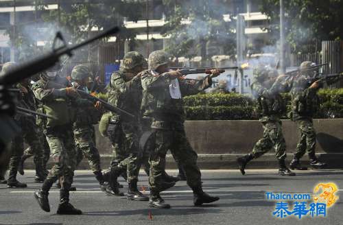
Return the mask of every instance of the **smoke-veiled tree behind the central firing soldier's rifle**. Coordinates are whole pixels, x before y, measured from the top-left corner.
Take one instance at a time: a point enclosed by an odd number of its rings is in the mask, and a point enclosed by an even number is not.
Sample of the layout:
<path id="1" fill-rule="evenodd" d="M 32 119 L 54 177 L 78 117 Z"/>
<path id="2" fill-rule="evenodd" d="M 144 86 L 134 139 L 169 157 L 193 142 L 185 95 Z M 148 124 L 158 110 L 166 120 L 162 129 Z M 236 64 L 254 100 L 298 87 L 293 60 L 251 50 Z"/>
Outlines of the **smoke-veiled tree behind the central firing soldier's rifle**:
<path id="1" fill-rule="evenodd" d="M 228 14 L 226 0 L 163 0 L 166 21 L 161 34 L 169 36 L 166 50 L 176 56 L 193 58 L 200 50 L 202 59 L 213 55 L 209 45 L 224 47 L 224 54 L 234 54 L 233 17 Z M 206 51 L 207 44 L 207 51 Z"/>

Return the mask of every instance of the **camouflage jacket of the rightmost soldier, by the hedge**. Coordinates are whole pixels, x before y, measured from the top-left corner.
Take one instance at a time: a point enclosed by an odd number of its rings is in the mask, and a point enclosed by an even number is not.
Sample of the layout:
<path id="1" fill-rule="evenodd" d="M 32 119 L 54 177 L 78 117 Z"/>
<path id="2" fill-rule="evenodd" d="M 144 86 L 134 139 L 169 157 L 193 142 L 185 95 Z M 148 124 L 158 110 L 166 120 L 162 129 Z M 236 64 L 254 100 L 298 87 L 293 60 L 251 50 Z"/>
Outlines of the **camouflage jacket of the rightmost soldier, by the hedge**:
<path id="1" fill-rule="evenodd" d="M 289 118 L 293 121 L 299 119 L 312 119 L 318 111 L 320 101 L 318 88 L 305 86 L 305 75 L 300 75 L 293 80 L 291 94 L 291 112 Z"/>

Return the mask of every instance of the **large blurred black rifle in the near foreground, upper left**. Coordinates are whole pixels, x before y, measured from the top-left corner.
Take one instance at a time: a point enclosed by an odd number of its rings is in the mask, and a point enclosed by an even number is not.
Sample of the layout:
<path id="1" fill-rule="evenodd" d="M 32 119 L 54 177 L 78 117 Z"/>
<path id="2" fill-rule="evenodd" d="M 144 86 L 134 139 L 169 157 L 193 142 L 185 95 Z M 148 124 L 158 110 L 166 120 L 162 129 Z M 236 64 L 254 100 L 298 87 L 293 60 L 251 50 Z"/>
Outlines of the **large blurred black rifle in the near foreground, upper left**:
<path id="1" fill-rule="evenodd" d="M 0 84 L 4 86 L 10 86 L 20 82 L 25 78 L 29 78 L 36 73 L 40 73 L 41 71 L 45 71 L 50 67 L 53 67 L 57 62 L 60 61 L 60 57 L 67 55 L 69 57 L 73 56 L 72 52 L 75 49 L 88 45 L 93 41 L 104 38 L 109 35 L 117 34 L 119 32 L 118 27 L 113 27 L 108 29 L 106 32 L 102 32 L 85 40 L 82 43 L 72 45 L 68 47 L 67 42 L 64 40 L 62 33 L 57 32 L 56 37 L 54 39 L 53 50 L 47 54 L 43 54 L 43 56 L 38 56 L 34 60 L 29 60 L 23 64 L 19 64 L 19 66 L 14 67 L 8 73 L 4 73 L 1 71 L 0 73 Z M 61 47 L 55 48 L 57 40 L 61 40 L 63 45 Z M 19 131 L 19 127 L 16 126 L 12 117 L 7 114 L 0 112 L 0 128 L 1 128 L 1 137 L 0 143 L 8 143 Z"/>

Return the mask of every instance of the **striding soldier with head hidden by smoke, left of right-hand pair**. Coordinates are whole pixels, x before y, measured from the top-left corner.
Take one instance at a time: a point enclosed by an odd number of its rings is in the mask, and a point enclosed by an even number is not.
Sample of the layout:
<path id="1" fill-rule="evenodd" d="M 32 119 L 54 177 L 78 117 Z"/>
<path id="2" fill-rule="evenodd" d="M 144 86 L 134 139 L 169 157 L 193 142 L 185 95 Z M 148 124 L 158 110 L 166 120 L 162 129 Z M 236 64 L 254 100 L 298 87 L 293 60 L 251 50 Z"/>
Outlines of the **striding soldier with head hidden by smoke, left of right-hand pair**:
<path id="1" fill-rule="evenodd" d="M 281 82 L 284 75 L 279 75 L 276 70 L 259 66 L 254 69 L 254 80 L 251 84 L 253 93 L 257 95 L 259 121 L 263 126 L 263 138 L 259 139 L 252 149 L 251 154 L 237 158 L 241 174 L 245 174 L 246 164 L 253 158 L 259 158 L 272 147 L 279 161 L 279 175 L 295 176 L 285 165 L 286 143 L 283 137 L 280 117 L 285 112 L 285 104 L 280 95 L 287 89 Z M 276 80 L 275 80 L 276 78 Z"/>

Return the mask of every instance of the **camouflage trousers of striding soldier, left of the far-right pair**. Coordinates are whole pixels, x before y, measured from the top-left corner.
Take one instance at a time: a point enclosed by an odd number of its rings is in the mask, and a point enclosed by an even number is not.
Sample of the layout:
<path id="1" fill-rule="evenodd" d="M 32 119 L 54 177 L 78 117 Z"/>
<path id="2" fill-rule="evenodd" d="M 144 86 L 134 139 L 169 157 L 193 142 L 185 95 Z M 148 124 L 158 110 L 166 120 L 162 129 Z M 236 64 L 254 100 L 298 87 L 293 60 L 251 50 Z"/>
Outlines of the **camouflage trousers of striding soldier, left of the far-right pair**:
<path id="1" fill-rule="evenodd" d="M 274 147 L 276 158 L 286 158 L 286 142 L 283 137 L 281 121 L 262 122 L 263 138 L 252 149 L 254 158 L 259 158 Z"/>

